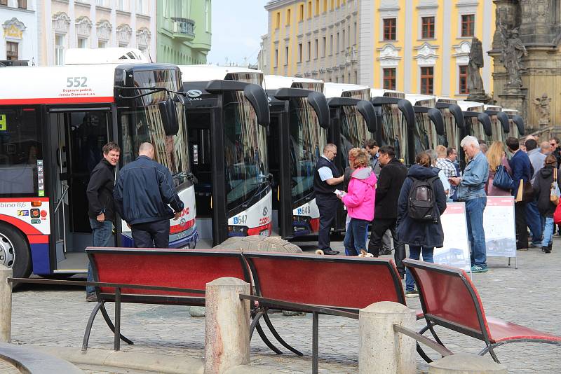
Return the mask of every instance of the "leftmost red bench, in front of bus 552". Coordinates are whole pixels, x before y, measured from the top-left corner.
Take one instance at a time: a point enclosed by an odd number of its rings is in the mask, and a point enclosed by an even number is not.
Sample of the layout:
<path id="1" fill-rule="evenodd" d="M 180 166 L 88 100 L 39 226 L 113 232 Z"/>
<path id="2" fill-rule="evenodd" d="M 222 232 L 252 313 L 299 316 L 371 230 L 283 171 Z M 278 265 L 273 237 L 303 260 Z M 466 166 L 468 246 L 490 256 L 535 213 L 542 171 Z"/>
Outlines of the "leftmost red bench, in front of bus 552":
<path id="1" fill-rule="evenodd" d="M 133 344 L 119 331 L 120 303 L 204 306 L 208 282 L 221 277 L 250 282 L 240 252 L 137 248 L 87 248 L 86 252 L 95 281 L 122 287 L 96 287 L 98 303 L 86 326 L 83 350 L 88 348 L 93 320 L 100 310 L 111 331 Z M 116 302 L 115 326 L 104 307 L 107 302 Z M 260 326 L 257 328 L 259 335 L 265 336 Z M 115 340 L 118 350 L 119 338 Z"/>

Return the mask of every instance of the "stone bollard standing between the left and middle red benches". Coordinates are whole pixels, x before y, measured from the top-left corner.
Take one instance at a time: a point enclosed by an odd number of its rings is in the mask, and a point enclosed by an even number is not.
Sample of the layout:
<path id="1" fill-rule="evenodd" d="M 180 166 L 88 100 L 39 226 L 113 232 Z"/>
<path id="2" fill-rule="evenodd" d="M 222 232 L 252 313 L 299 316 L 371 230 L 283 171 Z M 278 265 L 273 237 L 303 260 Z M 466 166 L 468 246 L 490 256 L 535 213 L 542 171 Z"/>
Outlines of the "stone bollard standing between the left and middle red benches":
<path id="1" fill-rule="evenodd" d="M 205 374 L 250 362 L 250 284 L 224 277 L 206 284 Z"/>

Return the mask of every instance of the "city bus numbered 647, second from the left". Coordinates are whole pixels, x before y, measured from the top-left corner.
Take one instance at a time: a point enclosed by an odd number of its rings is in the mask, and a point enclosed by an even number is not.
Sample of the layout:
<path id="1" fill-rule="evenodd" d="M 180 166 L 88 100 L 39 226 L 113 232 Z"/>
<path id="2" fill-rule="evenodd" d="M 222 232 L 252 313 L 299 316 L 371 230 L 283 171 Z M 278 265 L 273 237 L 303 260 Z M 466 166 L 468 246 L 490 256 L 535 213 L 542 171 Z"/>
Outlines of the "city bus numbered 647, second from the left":
<path id="1" fill-rule="evenodd" d="M 269 103 L 261 71 L 180 66 L 201 239 L 271 235 Z"/>

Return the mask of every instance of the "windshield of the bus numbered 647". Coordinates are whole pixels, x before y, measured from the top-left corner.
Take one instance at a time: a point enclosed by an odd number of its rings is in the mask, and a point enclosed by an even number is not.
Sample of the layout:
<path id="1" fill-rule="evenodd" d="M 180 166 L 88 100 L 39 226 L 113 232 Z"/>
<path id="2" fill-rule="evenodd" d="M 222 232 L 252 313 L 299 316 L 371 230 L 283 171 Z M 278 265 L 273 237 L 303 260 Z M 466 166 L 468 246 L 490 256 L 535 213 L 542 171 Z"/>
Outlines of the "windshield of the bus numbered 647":
<path id="1" fill-rule="evenodd" d="M 233 210 L 269 186 L 266 128 L 243 92 L 224 94 L 227 209 Z"/>

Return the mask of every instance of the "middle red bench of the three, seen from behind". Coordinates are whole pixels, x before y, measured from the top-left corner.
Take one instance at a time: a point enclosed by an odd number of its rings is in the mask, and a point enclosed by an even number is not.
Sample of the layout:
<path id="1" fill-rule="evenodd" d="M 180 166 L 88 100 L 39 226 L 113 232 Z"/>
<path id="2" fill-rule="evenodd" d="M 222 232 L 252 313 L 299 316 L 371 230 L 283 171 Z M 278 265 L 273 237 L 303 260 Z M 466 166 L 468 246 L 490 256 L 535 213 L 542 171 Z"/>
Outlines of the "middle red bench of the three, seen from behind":
<path id="1" fill-rule="evenodd" d="M 244 252 L 255 295 L 241 298 L 254 301 L 252 325 L 263 318 L 281 345 L 288 345 L 271 323 L 268 310 L 289 310 L 313 314 L 312 372 L 318 372 L 318 314 L 358 319 L 358 310 L 379 301 L 405 305 L 403 286 L 396 265 L 386 258 L 316 256 L 305 254 L 264 254 Z M 362 282 L 358 289 L 358 279 Z M 280 353 L 279 349 L 274 349 Z"/>

